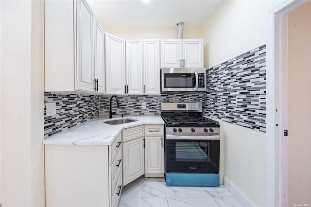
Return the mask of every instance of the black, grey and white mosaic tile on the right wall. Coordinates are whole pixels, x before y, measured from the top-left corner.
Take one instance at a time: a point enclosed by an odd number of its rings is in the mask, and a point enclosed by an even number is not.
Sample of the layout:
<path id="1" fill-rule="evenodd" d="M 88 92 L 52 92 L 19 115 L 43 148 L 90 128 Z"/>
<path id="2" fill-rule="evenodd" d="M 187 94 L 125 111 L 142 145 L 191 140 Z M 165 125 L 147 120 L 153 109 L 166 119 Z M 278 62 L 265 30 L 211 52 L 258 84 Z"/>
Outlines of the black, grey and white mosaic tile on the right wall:
<path id="1" fill-rule="evenodd" d="M 207 70 L 207 116 L 266 131 L 266 46 Z"/>

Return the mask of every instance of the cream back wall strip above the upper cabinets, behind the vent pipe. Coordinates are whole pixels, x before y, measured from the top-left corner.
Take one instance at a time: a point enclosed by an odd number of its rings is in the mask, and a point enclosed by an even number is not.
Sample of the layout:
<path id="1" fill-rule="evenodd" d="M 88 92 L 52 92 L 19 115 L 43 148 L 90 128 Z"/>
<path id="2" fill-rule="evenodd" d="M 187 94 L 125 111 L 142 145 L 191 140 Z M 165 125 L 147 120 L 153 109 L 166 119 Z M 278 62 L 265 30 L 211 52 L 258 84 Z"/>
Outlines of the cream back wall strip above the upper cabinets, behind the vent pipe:
<path id="1" fill-rule="evenodd" d="M 125 40 L 130 39 L 176 39 L 178 27 L 162 28 L 105 28 L 104 31 L 119 36 Z M 184 39 L 202 39 L 201 27 L 184 27 Z"/>

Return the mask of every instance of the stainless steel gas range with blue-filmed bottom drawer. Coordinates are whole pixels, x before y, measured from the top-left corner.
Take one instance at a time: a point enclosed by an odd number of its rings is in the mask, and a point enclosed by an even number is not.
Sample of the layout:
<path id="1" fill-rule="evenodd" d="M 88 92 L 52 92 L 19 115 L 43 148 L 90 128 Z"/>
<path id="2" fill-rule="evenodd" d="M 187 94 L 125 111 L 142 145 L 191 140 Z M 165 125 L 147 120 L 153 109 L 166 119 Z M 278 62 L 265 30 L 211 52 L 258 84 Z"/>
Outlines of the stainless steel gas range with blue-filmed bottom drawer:
<path id="1" fill-rule="evenodd" d="M 162 103 L 168 186 L 219 186 L 220 128 L 201 103 Z"/>

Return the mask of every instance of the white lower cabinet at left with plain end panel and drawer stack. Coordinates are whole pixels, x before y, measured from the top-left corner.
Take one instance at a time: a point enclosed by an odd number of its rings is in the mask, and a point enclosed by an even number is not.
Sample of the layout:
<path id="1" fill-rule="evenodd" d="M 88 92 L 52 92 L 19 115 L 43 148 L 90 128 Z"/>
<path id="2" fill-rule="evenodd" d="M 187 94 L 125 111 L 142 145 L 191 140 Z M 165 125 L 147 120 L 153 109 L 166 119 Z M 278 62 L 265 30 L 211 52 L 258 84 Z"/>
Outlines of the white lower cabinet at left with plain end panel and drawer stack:
<path id="1" fill-rule="evenodd" d="M 110 146 L 44 145 L 46 207 L 118 207 L 121 134 Z M 118 147 L 117 147 L 118 146 Z"/>

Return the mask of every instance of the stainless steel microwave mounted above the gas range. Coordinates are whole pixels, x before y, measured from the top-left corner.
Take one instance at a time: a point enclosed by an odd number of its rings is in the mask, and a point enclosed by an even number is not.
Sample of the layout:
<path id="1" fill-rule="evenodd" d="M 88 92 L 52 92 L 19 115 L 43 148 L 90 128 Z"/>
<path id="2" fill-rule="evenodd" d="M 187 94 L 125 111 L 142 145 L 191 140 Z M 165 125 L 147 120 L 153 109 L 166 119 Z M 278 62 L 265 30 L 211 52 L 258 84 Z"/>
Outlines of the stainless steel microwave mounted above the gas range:
<path id="1" fill-rule="evenodd" d="M 206 91 L 205 68 L 162 68 L 162 91 Z"/>

